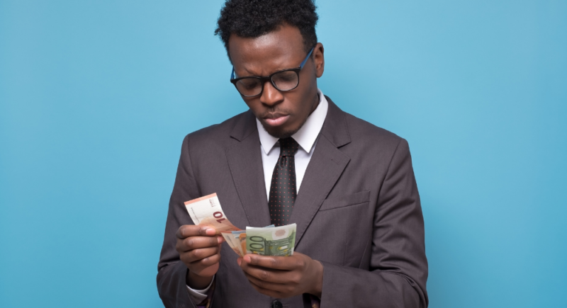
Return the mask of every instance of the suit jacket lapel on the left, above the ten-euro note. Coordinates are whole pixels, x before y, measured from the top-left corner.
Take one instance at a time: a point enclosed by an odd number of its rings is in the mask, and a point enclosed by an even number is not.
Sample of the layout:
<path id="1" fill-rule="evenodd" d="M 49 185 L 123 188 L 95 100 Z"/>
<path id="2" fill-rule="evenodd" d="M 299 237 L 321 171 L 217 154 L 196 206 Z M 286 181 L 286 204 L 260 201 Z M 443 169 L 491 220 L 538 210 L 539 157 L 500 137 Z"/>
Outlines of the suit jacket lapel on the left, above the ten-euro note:
<path id="1" fill-rule="evenodd" d="M 254 120 L 248 111 L 232 130 L 231 137 L 237 139 L 235 146 L 227 150 L 228 165 L 232 181 L 246 212 L 249 226 L 265 227 L 270 224 L 270 215 L 260 153 L 260 139 Z"/>

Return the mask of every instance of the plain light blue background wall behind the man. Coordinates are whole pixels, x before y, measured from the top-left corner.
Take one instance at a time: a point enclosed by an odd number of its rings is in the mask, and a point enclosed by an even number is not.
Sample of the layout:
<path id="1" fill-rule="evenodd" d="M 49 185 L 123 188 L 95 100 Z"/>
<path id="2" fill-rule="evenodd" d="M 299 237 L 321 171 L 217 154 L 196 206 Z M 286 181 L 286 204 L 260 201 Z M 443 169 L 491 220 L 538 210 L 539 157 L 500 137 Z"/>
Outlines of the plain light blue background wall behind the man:
<path id="1" fill-rule="evenodd" d="M 184 135 L 246 110 L 223 1 L 0 0 L 0 307 L 159 307 Z M 567 2 L 318 1 L 341 108 L 410 142 L 430 307 L 567 307 Z"/>

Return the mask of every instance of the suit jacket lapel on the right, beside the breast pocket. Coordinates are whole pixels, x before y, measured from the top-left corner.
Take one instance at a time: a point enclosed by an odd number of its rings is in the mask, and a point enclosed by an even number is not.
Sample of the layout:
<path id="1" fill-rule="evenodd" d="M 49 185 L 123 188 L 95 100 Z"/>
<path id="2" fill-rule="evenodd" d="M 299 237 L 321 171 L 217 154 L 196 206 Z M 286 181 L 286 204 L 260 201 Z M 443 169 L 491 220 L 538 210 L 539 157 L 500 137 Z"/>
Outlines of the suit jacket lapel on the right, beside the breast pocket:
<path id="1" fill-rule="evenodd" d="M 330 98 L 327 101 L 327 117 L 291 212 L 290 223 L 297 224 L 296 245 L 350 161 L 338 149 L 350 142 L 345 113 Z"/>

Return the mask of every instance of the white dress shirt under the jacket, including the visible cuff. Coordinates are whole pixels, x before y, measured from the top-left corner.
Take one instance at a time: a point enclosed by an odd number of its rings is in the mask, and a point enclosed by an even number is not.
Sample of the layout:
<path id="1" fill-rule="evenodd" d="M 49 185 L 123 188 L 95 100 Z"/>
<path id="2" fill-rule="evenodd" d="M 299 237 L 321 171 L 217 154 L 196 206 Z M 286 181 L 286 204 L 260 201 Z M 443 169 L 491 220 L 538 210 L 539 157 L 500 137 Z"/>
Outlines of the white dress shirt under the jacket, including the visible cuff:
<path id="1" fill-rule="evenodd" d="M 313 113 L 309 115 L 305 124 L 303 124 L 298 132 L 291 136 L 299 144 L 299 149 L 295 156 L 297 193 L 299 193 L 307 165 L 311 160 L 311 156 L 313 156 L 315 144 L 317 144 L 319 132 L 323 127 L 323 123 L 327 117 L 327 109 L 329 108 L 329 103 L 325 96 L 323 96 L 321 90 L 317 89 L 317 92 L 319 94 L 319 105 L 313 110 Z M 256 126 L 258 127 L 258 135 L 260 137 L 260 151 L 262 152 L 262 166 L 264 166 L 266 195 L 269 199 L 271 175 L 274 173 L 274 168 L 279 159 L 279 141 L 278 138 L 269 135 L 269 133 L 264 130 L 262 123 L 260 123 L 258 119 L 256 119 Z M 212 283 L 211 281 L 211 284 Z M 195 303 L 203 302 L 203 300 L 207 298 L 206 292 L 209 288 L 210 285 L 204 290 L 195 290 L 191 289 L 189 285 L 187 286 L 189 296 L 191 296 L 191 299 Z"/>

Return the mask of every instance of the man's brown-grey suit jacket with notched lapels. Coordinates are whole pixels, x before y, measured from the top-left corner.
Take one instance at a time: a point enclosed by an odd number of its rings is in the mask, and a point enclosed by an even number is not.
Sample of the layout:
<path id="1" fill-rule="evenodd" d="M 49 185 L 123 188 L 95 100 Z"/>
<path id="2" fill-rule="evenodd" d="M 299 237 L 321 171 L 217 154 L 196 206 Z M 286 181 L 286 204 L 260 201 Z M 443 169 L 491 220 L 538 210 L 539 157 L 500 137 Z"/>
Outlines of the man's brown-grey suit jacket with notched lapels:
<path id="1" fill-rule="evenodd" d="M 423 217 L 408 142 L 344 113 L 330 98 L 327 118 L 298 191 L 290 223 L 296 251 L 324 267 L 321 307 L 427 307 Z M 260 141 L 250 110 L 184 139 L 159 258 L 166 307 L 195 307 L 175 232 L 193 224 L 184 201 L 217 193 L 235 226 L 270 224 Z M 223 244 L 213 307 L 270 307 Z M 308 297 L 279 299 L 310 307 Z"/>

